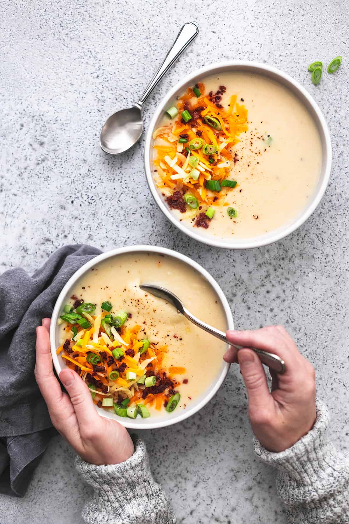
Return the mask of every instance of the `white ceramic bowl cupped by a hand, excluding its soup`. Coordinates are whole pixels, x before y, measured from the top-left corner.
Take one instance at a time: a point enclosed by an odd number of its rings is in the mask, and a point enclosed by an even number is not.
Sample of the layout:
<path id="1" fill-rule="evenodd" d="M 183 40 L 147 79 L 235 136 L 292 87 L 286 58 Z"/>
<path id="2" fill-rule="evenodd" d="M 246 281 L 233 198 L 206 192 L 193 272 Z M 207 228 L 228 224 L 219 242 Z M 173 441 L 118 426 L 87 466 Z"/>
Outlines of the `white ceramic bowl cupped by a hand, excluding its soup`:
<path id="1" fill-rule="evenodd" d="M 51 353 L 52 353 L 52 359 L 53 359 L 53 365 L 54 368 L 59 375 L 62 369 L 66 367 L 65 363 L 63 362 L 63 359 L 56 354 L 57 347 L 59 347 L 59 330 L 57 321 L 59 319 L 59 316 L 61 314 L 62 308 L 64 307 L 64 304 L 66 303 L 67 299 L 71 296 L 72 288 L 75 285 L 75 282 L 83 275 L 86 271 L 94 267 L 99 262 L 102 262 L 102 260 L 106 260 L 107 258 L 114 257 L 116 255 L 121 255 L 124 253 L 137 253 L 137 252 L 148 252 L 148 253 L 160 253 L 162 255 L 167 255 L 173 258 L 176 258 L 177 260 L 182 261 L 183 264 L 187 264 L 191 267 L 193 267 L 196 271 L 198 271 L 202 277 L 204 277 L 211 287 L 216 291 L 218 299 L 220 300 L 220 303 L 224 309 L 224 312 L 226 313 L 226 319 L 227 319 L 227 326 L 229 329 L 234 329 L 233 324 L 233 317 L 231 314 L 231 310 L 228 304 L 228 301 L 226 297 L 224 297 L 223 291 L 219 287 L 218 283 L 214 278 L 211 277 L 211 275 L 201 267 L 199 264 L 194 262 L 193 260 L 190 260 L 190 258 L 186 257 L 185 255 L 182 255 L 181 253 L 176 253 L 172 251 L 171 249 L 166 249 L 163 247 L 155 247 L 155 246 L 131 246 L 131 247 L 120 247 L 119 249 L 113 249 L 111 251 L 108 251 L 107 253 L 103 253 L 102 255 L 99 255 L 89 262 L 82 266 L 80 269 L 76 271 L 76 273 L 67 281 L 66 285 L 62 289 L 57 302 L 55 303 L 53 312 L 52 312 L 52 319 L 51 319 L 51 329 L 50 329 L 50 341 L 51 341 Z M 228 346 L 227 346 L 228 347 Z M 129 419 L 129 418 L 122 418 L 118 417 L 117 415 L 114 415 L 113 413 L 110 413 L 109 411 L 104 410 L 103 408 L 98 408 L 96 406 L 97 412 L 102 415 L 102 417 L 106 417 L 109 419 L 114 419 L 120 422 L 120 424 L 124 425 L 126 428 L 132 428 L 132 429 L 152 429 L 152 428 L 162 428 L 167 425 L 175 424 L 176 422 L 180 422 L 181 420 L 187 419 L 190 417 L 190 415 L 193 415 L 199 409 L 203 408 L 207 402 L 213 397 L 213 395 L 216 394 L 218 389 L 223 383 L 224 378 L 226 378 L 227 373 L 229 370 L 229 364 L 222 361 L 222 367 L 220 370 L 219 375 L 217 375 L 215 381 L 209 389 L 206 391 L 206 394 L 204 397 L 199 397 L 197 400 L 193 401 L 189 407 L 187 407 L 185 410 L 175 410 L 173 413 L 167 413 L 164 412 L 163 415 L 158 417 L 149 417 L 148 419 Z"/>

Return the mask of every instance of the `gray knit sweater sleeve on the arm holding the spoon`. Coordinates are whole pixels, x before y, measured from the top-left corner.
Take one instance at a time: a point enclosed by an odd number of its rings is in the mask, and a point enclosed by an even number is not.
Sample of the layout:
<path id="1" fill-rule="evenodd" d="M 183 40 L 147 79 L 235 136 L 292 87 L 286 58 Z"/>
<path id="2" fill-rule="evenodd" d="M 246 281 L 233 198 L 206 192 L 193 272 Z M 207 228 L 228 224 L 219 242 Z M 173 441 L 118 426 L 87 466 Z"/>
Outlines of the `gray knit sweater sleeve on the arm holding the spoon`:
<path id="1" fill-rule="evenodd" d="M 349 522 L 349 456 L 329 442 L 328 424 L 328 409 L 317 402 L 313 429 L 288 450 L 272 453 L 254 440 L 256 454 L 277 469 L 277 490 L 291 524 Z"/>

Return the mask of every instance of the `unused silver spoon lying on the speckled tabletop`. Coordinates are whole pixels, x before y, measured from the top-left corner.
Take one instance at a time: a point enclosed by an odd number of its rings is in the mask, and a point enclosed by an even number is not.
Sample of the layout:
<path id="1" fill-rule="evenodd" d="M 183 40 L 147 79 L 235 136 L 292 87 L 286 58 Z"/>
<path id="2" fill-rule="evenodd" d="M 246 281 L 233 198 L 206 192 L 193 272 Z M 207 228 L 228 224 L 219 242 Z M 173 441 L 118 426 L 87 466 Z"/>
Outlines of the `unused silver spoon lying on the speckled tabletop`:
<path id="1" fill-rule="evenodd" d="M 189 43 L 194 40 L 198 32 L 197 26 L 192 22 L 184 24 L 172 48 L 168 51 L 165 60 L 156 71 L 139 101 L 133 107 L 122 109 L 109 116 L 100 133 L 100 147 L 104 151 L 110 155 L 119 155 L 138 142 L 143 132 L 142 106 L 145 100 L 147 100 L 155 85 L 160 82 L 164 74 L 170 69 L 173 62 L 183 53 Z"/>

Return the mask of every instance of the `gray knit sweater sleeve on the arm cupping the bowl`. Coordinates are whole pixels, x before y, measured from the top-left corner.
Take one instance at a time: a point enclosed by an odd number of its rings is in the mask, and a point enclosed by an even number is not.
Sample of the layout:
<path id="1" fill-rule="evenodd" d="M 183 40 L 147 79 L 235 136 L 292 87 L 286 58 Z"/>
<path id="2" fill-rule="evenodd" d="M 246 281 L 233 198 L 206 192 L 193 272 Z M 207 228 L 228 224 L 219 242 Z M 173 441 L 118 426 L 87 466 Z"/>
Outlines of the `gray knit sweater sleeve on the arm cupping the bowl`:
<path id="1" fill-rule="evenodd" d="M 83 509 L 88 524 L 175 524 L 164 490 L 154 481 L 145 444 L 137 440 L 133 455 L 121 464 L 96 466 L 76 457 L 77 471 L 94 488 Z"/>

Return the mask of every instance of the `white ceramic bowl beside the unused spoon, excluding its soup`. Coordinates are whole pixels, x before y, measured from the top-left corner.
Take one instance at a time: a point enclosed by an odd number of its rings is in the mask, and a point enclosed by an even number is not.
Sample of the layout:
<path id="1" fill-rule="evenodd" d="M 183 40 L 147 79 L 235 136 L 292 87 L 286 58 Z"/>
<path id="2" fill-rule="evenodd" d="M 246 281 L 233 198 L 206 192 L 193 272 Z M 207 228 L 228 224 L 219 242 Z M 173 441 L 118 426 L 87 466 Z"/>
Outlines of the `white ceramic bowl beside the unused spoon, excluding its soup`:
<path id="1" fill-rule="evenodd" d="M 153 133 L 154 130 L 159 127 L 161 118 L 163 117 L 164 111 L 172 105 L 176 105 L 176 97 L 184 93 L 188 86 L 194 85 L 195 83 L 205 79 L 209 75 L 221 74 L 226 72 L 249 72 L 249 73 L 258 73 L 263 74 L 265 77 L 269 77 L 280 84 L 283 84 L 288 88 L 292 93 L 294 93 L 298 99 L 306 106 L 310 115 L 312 116 L 320 135 L 321 146 L 322 146 L 322 167 L 321 174 L 318 181 L 316 190 L 314 191 L 312 197 L 309 199 L 307 206 L 303 211 L 296 217 L 296 219 L 285 226 L 279 227 L 277 230 L 271 231 L 264 235 L 256 236 L 255 238 L 239 238 L 236 241 L 218 238 L 215 236 L 207 236 L 200 234 L 199 228 L 188 228 L 184 226 L 179 220 L 171 213 L 170 209 L 164 202 L 159 189 L 157 189 L 154 180 L 153 180 L 153 162 L 152 162 L 152 146 L 154 143 Z M 170 220 L 179 230 L 181 230 L 186 235 L 195 238 L 199 242 L 204 244 L 209 244 L 215 247 L 224 247 L 228 249 L 250 249 L 253 247 L 260 247 L 266 244 L 271 244 L 276 242 L 280 238 L 284 238 L 293 231 L 295 231 L 303 222 L 305 222 L 311 213 L 316 209 L 319 204 L 322 195 L 327 187 L 330 178 L 331 172 L 331 162 L 332 162 L 332 148 L 331 148 L 331 139 L 330 133 L 325 122 L 324 116 L 321 113 L 317 103 L 313 100 L 310 94 L 298 83 L 296 80 L 289 77 L 288 74 L 275 69 L 269 65 L 258 63 L 258 62 L 248 62 L 248 61 L 228 61 L 228 62 L 219 62 L 215 64 L 208 65 L 194 73 L 190 73 L 184 80 L 178 82 L 175 87 L 167 93 L 162 101 L 160 102 L 157 110 L 151 122 L 149 124 L 147 136 L 145 137 L 144 144 L 144 168 L 145 174 L 147 175 L 147 181 L 149 184 L 150 191 L 154 197 L 155 202 L 159 205 L 159 208 L 164 213 L 164 215 Z"/>

